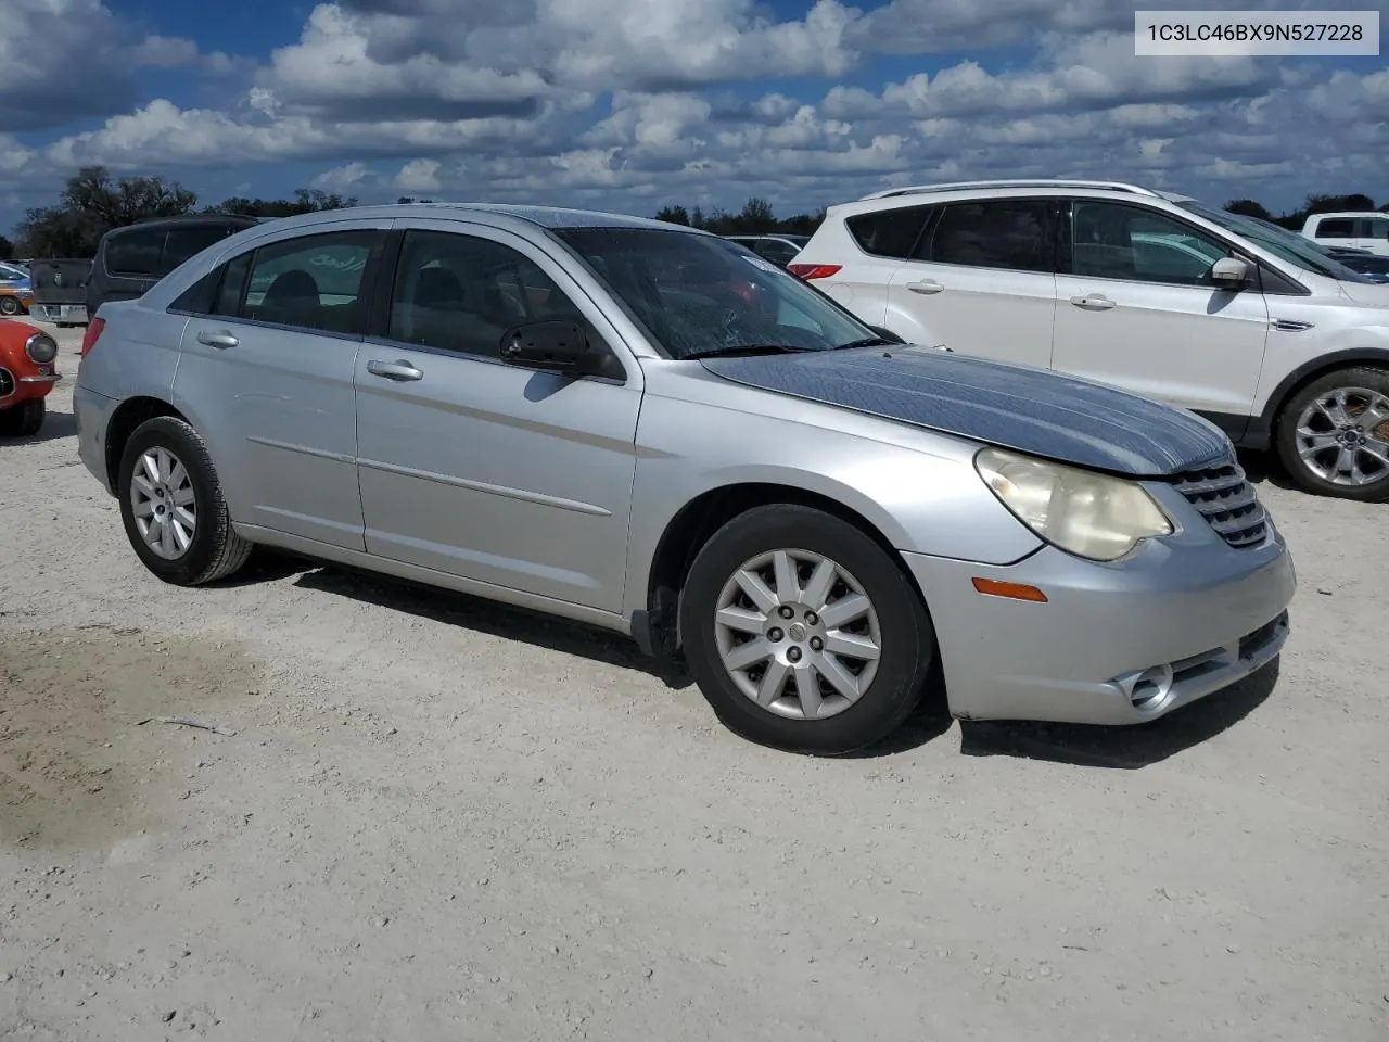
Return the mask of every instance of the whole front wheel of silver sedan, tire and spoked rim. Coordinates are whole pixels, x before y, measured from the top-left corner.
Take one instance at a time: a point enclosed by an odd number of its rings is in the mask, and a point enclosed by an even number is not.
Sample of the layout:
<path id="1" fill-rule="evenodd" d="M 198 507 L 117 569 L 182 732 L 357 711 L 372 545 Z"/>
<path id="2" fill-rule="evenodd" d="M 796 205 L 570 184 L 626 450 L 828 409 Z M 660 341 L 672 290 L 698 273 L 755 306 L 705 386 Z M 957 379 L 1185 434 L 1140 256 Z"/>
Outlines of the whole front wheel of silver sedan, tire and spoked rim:
<path id="1" fill-rule="evenodd" d="M 681 599 L 681 635 L 726 727 L 826 756 L 896 729 L 935 657 L 900 564 L 847 521 L 790 504 L 754 507 L 710 538 Z"/>

